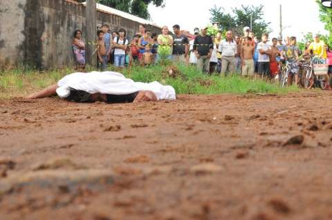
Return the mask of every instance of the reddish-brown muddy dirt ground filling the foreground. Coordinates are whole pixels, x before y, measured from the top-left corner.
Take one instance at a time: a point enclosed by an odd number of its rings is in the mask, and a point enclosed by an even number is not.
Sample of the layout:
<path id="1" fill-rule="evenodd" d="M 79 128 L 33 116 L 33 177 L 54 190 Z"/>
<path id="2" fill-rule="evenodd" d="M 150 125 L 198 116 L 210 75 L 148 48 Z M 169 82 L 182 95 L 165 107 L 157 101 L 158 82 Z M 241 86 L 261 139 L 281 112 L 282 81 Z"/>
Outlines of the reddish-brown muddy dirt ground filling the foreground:
<path id="1" fill-rule="evenodd" d="M 0 101 L 0 219 L 332 219 L 332 94 Z"/>

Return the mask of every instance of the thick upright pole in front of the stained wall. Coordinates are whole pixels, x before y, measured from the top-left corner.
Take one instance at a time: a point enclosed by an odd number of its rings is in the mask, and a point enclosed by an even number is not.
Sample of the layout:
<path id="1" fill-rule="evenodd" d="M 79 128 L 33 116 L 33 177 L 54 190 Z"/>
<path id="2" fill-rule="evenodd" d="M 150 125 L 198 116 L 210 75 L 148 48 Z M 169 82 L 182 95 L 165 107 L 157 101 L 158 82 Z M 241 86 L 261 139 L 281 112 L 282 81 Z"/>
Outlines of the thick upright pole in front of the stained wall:
<path id="1" fill-rule="evenodd" d="M 96 66 L 97 57 L 95 51 L 96 40 L 96 5 L 95 0 L 87 0 L 85 8 L 85 26 L 86 26 L 86 63 L 92 67 Z M 94 53 L 94 54 L 93 54 Z"/>

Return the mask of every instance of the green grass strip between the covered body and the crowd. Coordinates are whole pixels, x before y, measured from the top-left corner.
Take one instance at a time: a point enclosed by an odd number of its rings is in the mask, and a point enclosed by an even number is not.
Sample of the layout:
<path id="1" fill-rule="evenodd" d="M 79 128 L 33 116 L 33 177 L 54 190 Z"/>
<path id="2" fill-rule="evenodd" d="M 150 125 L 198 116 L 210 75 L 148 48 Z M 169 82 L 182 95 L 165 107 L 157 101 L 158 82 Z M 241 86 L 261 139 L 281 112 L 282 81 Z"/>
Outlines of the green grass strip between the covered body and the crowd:
<path id="1" fill-rule="evenodd" d="M 151 66 L 142 68 L 133 66 L 118 70 L 133 81 L 151 82 L 171 85 L 177 94 L 246 94 L 246 93 L 272 93 L 286 94 L 298 92 L 296 86 L 279 88 L 277 83 L 266 82 L 261 79 L 246 79 L 237 75 L 230 77 L 219 77 L 217 75 L 206 75 L 199 72 L 194 66 L 176 65 L 177 77 L 169 77 L 169 66 Z M 92 71 L 93 69 L 88 69 Z M 117 71 L 110 67 L 109 70 Z M 75 72 L 71 68 L 61 70 L 4 70 L 0 72 L 0 99 L 12 97 L 24 97 L 46 86 L 56 83 L 66 74 Z"/>

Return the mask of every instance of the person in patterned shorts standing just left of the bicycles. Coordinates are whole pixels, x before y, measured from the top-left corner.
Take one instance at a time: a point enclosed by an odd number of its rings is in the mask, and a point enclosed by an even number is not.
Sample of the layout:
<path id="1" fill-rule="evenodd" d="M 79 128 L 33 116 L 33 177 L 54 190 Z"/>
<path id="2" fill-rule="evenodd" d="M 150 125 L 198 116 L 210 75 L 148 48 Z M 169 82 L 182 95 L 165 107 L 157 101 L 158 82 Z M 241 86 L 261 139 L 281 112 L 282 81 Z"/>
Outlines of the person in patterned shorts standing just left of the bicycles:
<path id="1" fill-rule="evenodd" d="M 296 46 L 296 37 L 291 37 L 291 45 L 286 46 L 284 51 L 285 60 L 291 67 L 288 73 L 287 84 L 291 86 L 295 76 L 295 83 L 299 83 L 299 48 Z"/>

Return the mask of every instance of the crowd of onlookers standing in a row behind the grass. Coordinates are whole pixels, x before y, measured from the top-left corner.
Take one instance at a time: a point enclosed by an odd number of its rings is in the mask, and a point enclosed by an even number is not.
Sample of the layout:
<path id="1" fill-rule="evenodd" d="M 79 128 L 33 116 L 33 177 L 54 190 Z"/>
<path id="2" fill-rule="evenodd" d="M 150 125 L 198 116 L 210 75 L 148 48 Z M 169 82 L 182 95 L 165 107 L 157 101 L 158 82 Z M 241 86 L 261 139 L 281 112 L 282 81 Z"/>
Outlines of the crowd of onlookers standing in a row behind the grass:
<path id="1" fill-rule="evenodd" d="M 208 74 L 214 72 L 226 74 L 241 74 L 243 77 L 273 78 L 279 74 L 280 67 L 288 61 L 291 72 L 288 84 L 295 79 L 299 81 L 299 59 L 316 56 L 317 63 L 329 65 L 332 74 L 332 48 L 327 46 L 315 34 L 313 42 L 307 42 L 305 50 L 299 50 L 296 37 L 272 38 L 269 42 L 268 34 L 262 34 L 261 41 L 250 28 L 243 28 L 243 34 L 226 32 L 225 39 L 222 32 L 215 36 L 208 35 L 208 27 L 195 28 L 194 36 L 190 39 L 183 34 L 180 26 L 173 27 L 174 34 L 163 26 L 161 33 L 152 33 L 146 26 L 140 24 L 139 32 L 132 41 L 126 38 L 126 30 L 110 32 L 109 26 L 103 24 L 97 32 L 98 67 L 105 70 L 107 65 L 118 68 L 132 66 L 149 66 L 161 59 L 174 62 L 190 63 L 198 70 Z M 76 30 L 73 38 L 73 53 L 80 68 L 85 66 L 85 50 L 82 41 L 82 31 Z"/>

